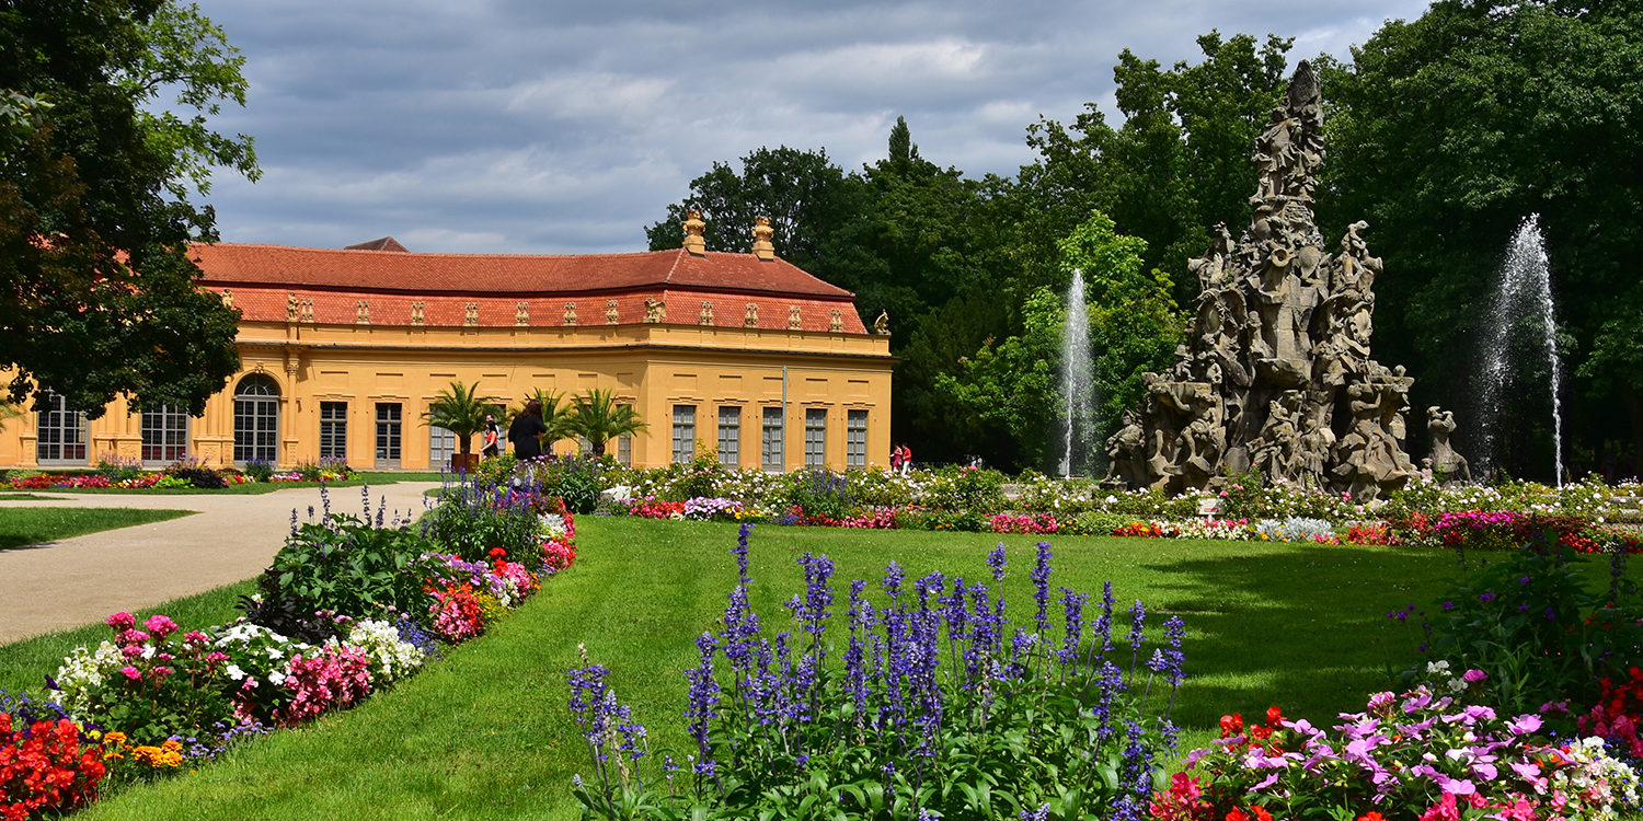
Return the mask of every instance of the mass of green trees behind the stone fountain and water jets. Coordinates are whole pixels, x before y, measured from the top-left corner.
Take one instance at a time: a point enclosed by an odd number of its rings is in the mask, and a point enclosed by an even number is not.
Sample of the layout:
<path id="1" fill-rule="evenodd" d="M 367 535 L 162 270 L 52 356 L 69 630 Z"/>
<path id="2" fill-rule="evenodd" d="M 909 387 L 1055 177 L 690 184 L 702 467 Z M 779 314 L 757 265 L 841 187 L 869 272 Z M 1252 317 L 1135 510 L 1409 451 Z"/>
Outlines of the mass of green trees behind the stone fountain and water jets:
<path id="1" fill-rule="evenodd" d="M 859 171 L 787 148 L 748 154 L 739 174 L 716 164 L 692 195 L 705 212 L 733 213 L 734 236 L 715 245 L 710 218 L 710 248 L 746 250 L 752 213 L 798 213 L 775 192 L 812 192 L 777 248 L 854 291 L 864 319 L 891 310 L 891 353 L 902 360 L 892 437 L 917 442 L 930 461 L 979 452 L 1006 466 L 1045 463 L 1053 425 L 1029 394 L 1053 383 L 1050 330 L 1071 266 L 1091 284 L 1111 429 L 1139 374 L 1168 361 L 1175 305 L 1198 287 L 1186 261 L 1216 223 L 1249 223 L 1250 148 L 1285 89 L 1291 41 L 1211 31 L 1198 48 L 1199 61 L 1171 67 L 1121 53 L 1122 123 L 1096 103 L 1068 123 L 1030 123 L 1037 158 L 1009 177 L 940 166 L 902 118 L 884 159 Z M 1385 258 L 1375 358 L 1410 369 L 1415 404 L 1459 410 L 1464 450 L 1474 332 L 1507 240 L 1538 212 L 1574 374 L 1569 450 L 1587 466 L 1605 448 L 1643 458 L 1643 279 L 1633 271 L 1643 16 L 1625 3 L 1439 0 L 1420 20 L 1387 23 L 1351 62 L 1323 56 L 1318 66 L 1328 105 L 1319 222 L 1336 238 L 1369 220 L 1372 251 Z M 652 246 L 677 246 L 682 215 L 675 205 L 649 230 Z M 1549 407 L 1518 406 L 1500 438 L 1544 443 L 1544 453 L 1525 448 L 1508 466 L 1549 478 Z M 1411 437 L 1416 452 L 1421 438 Z"/>

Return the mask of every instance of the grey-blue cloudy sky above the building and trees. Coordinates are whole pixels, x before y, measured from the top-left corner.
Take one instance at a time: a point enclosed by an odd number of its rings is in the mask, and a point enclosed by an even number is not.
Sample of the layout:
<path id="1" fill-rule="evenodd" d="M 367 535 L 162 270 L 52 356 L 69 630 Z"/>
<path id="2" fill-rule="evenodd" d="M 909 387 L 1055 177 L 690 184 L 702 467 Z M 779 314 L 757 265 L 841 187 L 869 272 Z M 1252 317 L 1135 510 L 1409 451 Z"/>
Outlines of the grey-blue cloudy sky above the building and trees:
<path id="1" fill-rule="evenodd" d="M 920 153 L 1014 174 L 1040 115 L 1114 118 L 1130 48 L 1196 61 L 1194 38 L 1295 38 L 1347 56 L 1418 0 L 1015 3 L 565 3 L 197 0 L 245 56 L 263 179 L 219 174 L 225 241 L 412 251 L 644 250 L 644 227 L 715 161 L 825 148 L 859 169 L 897 115 Z M 1116 120 L 1114 120 L 1116 122 Z"/>

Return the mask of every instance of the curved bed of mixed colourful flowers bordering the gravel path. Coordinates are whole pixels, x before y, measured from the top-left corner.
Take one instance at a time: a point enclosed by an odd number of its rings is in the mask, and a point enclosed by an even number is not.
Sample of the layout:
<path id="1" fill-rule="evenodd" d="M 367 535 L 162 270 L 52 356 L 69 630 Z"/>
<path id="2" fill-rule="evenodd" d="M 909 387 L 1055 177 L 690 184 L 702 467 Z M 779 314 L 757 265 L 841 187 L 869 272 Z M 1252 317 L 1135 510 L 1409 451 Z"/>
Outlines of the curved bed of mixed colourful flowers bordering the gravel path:
<path id="1" fill-rule="evenodd" d="M 238 739 L 347 709 L 481 635 L 575 560 L 575 521 L 550 501 L 490 493 L 490 517 L 529 512 L 529 548 L 470 562 L 434 527 L 327 514 L 292 527 L 235 622 L 182 631 L 107 619 L 48 680 L 53 703 L 0 693 L 0 818 L 36 818 L 215 757 Z M 329 502 L 327 502 L 329 507 Z M 472 514 L 472 511 L 468 511 Z M 476 525 L 483 516 L 462 522 Z M 447 521 L 447 534 L 452 534 Z M 490 529 L 488 532 L 511 532 Z M 299 570 L 306 568 L 307 573 Z"/>

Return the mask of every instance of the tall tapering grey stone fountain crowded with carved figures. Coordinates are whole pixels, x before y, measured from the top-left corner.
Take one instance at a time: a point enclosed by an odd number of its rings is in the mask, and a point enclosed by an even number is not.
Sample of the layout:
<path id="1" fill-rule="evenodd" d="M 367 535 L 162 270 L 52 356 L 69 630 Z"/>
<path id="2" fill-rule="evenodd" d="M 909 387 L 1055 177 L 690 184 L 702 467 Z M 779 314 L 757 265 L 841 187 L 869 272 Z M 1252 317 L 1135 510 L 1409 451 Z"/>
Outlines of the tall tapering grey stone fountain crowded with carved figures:
<path id="1" fill-rule="evenodd" d="M 1405 452 L 1415 379 L 1369 355 L 1382 273 L 1369 225 L 1352 223 L 1336 255 L 1318 230 L 1323 158 L 1318 77 L 1301 62 L 1255 140 L 1254 218 L 1237 243 L 1217 225 L 1188 263 L 1201 286 L 1188 342 L 1170 373 L 1144 376 L 1142 406 L 1107 440 L 1107 486 L 1216 489 L 1259 471 L 1369 502 L 1420 473 Z M 1443 450 L 1438 471 L 1459 458 L 1447 437 Z"/>

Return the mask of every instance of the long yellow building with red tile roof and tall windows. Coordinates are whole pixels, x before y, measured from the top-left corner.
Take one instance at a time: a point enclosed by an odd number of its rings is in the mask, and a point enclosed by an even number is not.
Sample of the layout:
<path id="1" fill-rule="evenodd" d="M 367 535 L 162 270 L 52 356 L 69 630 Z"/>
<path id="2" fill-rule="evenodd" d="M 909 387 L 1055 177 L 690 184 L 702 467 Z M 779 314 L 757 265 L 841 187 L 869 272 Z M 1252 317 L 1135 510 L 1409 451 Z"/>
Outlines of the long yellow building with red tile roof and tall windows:
<path id="1" fill-rule="evenodd" d="M 455 440 L 421 415 L 452 381 L 508 406 L 536 389 L 613 391 L 649 425 L 613 443 L 636 466 L 698 447 L 771 471 L 884 463 L 889 337 L 863 327 L 848 291 L 777 259 L 762 225 L 746 255 L 703 251 L 700 225 L 685 248 L 628 255 L 196 246 L 202 284 L 240 312 L 242 369 L 205 414 L 120 401 L 87 422 L 48 396 L 3 424 L 0 465 L 439 470 Z"/>

